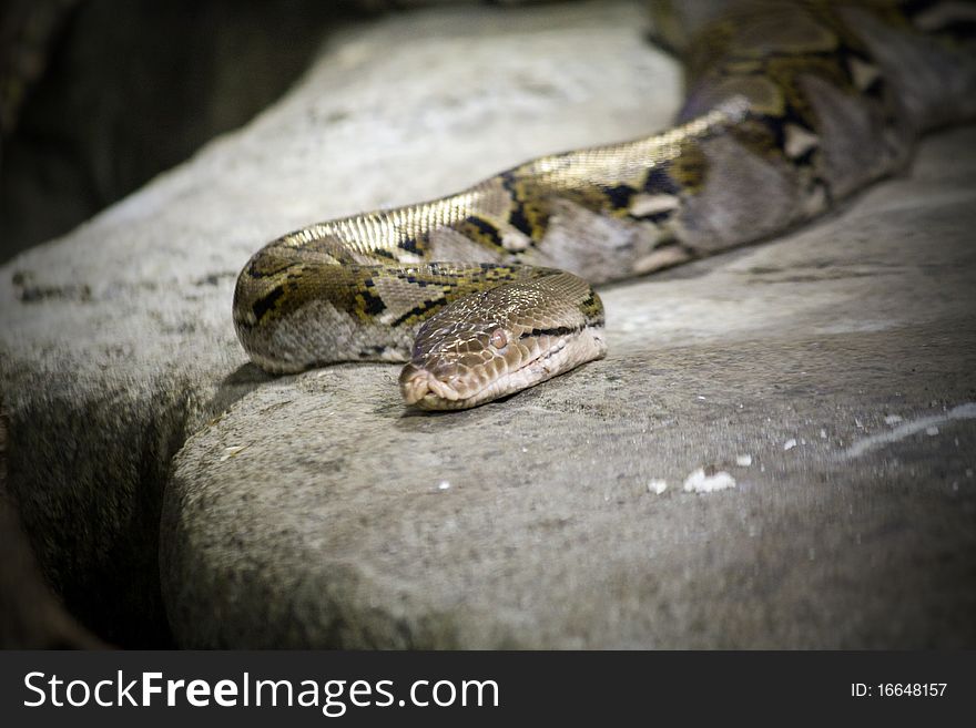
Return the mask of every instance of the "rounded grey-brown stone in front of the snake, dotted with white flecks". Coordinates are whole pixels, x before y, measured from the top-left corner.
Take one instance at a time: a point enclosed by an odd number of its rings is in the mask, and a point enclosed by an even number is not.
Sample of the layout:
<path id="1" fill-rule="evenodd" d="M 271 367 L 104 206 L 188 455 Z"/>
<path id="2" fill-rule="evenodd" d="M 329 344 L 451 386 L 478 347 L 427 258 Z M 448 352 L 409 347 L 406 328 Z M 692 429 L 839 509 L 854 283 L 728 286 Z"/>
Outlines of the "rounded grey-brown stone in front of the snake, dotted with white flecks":
<path id="1" fill-rule="evenodd" d="M 973 646 L 974 142 L 607 289 L 608 358 L 507 401 L 406 412 L 394 366 L 250 392 L 176 458 L 181 643 Z"/>

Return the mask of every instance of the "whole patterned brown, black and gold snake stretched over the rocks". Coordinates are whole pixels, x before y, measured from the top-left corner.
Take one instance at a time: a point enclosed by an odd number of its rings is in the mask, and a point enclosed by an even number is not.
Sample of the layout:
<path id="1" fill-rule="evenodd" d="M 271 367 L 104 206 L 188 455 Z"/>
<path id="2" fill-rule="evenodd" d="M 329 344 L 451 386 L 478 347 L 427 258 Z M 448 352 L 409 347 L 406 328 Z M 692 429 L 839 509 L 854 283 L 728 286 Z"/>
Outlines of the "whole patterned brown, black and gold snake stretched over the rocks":
<path id="1" fill-rule="evenodd" d="M 674 125 L 542 156 L 429 202 L 308 225 L 241 271 L 264 370 L 406 362 L 405 403 L 460 410 L 600 359 L 593 286 L 796 227 L 976 116 L 976 6 L 654 3 L 682 60 Z"/>

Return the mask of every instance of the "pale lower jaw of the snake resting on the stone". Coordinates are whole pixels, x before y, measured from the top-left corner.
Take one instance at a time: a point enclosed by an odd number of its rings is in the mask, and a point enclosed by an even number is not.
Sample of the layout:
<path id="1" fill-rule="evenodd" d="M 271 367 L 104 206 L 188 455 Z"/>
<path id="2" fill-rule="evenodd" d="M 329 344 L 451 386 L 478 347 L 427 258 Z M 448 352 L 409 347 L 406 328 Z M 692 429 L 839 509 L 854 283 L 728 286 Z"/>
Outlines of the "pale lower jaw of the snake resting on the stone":
<path id="1" fill-rule="evenodd" d="M 400 372 L 400 393 L 408 407 L 465 410 L 515 394 L 588 361 L 601 359 L 606 353 L 603 328 L 590 326 L 547 347 L 518 369 L 480 384 L 469 383 L 461 391 L 438 379 L 428 369 L 410 362 Z"/>

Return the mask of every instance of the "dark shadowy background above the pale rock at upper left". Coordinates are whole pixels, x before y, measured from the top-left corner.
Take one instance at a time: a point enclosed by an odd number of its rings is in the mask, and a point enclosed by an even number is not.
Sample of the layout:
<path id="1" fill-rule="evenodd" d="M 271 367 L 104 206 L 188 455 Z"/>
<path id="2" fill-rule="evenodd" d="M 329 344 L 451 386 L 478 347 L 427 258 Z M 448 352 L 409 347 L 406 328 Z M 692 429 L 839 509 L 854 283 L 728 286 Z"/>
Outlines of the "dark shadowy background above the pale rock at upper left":
<path id="1" fill-rule="evenodd" d="M 63 235 L 281 96 L 379 2 L 0 4 L 0 263 Z"/>

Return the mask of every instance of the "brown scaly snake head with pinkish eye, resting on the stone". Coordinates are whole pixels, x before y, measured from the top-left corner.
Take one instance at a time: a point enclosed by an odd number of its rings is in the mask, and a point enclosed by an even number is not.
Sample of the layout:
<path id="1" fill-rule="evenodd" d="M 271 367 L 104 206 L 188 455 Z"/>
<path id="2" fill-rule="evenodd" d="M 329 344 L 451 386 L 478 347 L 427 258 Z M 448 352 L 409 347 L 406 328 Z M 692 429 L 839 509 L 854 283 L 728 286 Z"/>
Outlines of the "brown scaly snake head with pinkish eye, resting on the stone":
<path id="1" fill-rule="evenodd" d="M 604 352 L 599 297 L 557 273 L 465 296 L 431 316 L 400 372 L 400 392 L 420 409 L 467 409 Z"/>

